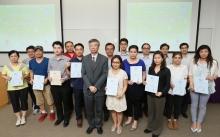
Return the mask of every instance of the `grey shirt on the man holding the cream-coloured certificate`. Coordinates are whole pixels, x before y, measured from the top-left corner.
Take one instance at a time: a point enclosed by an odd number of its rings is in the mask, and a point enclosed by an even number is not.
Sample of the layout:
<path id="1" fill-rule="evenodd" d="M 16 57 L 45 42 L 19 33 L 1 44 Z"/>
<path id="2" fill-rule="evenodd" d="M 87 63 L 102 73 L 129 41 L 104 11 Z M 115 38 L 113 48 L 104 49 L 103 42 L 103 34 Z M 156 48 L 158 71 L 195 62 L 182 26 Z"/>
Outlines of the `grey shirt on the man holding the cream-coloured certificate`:
<path id="1" fill-rule="evenodd" d="M 69 62 L 69 60 L 70 59 L 66 56 L 61 56 L 59 60 L 57 60 L 56 57 L 50 58 L 47 68 L 48 76 L 50 76 L 50 71 L 60 71 L 61 78 L 65 78 L 66 80 L 68 80 L 69 77 L 66 74 L 65 66 L 66 63 Z"/>

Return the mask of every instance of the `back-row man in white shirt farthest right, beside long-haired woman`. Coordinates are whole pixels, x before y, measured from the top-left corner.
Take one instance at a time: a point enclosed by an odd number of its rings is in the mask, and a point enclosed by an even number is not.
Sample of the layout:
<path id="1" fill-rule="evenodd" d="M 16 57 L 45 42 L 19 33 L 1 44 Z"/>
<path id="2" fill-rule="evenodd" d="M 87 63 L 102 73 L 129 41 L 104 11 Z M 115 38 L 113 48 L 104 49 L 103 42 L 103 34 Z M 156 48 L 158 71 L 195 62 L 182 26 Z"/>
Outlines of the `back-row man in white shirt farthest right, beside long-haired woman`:
<path id="1" fill-rule="evenodd" d="M 190 62 L 192 60 L 192 56 L 190 56 L 188 54 L 189 45 L 187 43 L 181 43 L 179 48 L 180 48 L 180 51 L 181 51 L 182 56 L 183 56 L 181 64 L 186 65 L 188 67 L 188 70 L 189 70 L 189 65 L 190 65 Z M 188 108 L 188 98 L 189 98 L 188 87 L 189 87 L 189 82 L 188 82 L 188 79 L 187 79 L 186 94 L 184 95 L 183 102 L 182 102 L 182 105 L 181 105 L 181 114 L 184 118 L 188 118 L 188 115 L 186 114 L 186 111 L 187 111 L 187 108 Z"/>

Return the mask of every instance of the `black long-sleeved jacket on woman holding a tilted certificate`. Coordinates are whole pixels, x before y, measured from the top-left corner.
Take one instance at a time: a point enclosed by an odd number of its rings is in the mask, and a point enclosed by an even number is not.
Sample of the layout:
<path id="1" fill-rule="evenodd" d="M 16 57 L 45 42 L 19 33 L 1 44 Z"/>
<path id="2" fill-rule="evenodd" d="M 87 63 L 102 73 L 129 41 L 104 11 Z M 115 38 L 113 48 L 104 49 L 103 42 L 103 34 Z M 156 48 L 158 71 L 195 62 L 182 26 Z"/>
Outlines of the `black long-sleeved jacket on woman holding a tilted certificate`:
<path id="1" fill-rule="evenodd" d="M 157 91 L 162 92 L 161 97 L 166 97 L 166 95 L 170 89 L 170 78 L 171 78 L 170 70 L 167 67 L 165 67 L 163 69 L 160 69 L 159 72 L 155 73 L 154 69 L 149 68 L 148 74 L 159 77 Z M 155 93 L 148 92 L 148 94 L 152 97 L 156 97 Z"/>

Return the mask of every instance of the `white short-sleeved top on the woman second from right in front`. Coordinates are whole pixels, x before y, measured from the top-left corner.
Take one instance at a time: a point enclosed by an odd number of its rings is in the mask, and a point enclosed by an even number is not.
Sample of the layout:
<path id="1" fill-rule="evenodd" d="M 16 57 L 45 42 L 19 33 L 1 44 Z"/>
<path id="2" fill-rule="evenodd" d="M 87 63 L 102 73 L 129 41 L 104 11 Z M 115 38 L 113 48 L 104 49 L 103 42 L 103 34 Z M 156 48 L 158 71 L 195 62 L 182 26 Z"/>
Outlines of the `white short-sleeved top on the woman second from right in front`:
<path id="1" fill-rule="evenodd" d="M 186 65 L 180 65 L 178 67 L 173 66 L 173 64 L 167 66 L 171 73 L 171 83 L 174 84 L 176 79 L 186 79 L 188 77 L 188 68 Z M 174 85 L 175 86 L 175 85 Z M 173 89 L 170 88 L 169 94 L 173 95 Z"/>

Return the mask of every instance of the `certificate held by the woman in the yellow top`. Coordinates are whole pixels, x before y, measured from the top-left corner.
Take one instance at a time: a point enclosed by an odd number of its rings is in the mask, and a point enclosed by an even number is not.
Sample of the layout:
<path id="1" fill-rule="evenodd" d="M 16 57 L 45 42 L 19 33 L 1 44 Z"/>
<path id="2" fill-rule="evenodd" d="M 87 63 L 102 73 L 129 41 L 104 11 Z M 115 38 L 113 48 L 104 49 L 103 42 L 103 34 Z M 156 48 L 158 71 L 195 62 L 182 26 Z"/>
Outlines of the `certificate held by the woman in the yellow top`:
<path id="1" fill-rule="evenodd" d="M 10 72 L 10 83 L 11 86 L 17 87 L 17 86 L 22 86 L 23 85 L 23 80 L 21 79 L 22 77 L 22 71 L 16 71 L 16 72 Z"/>

